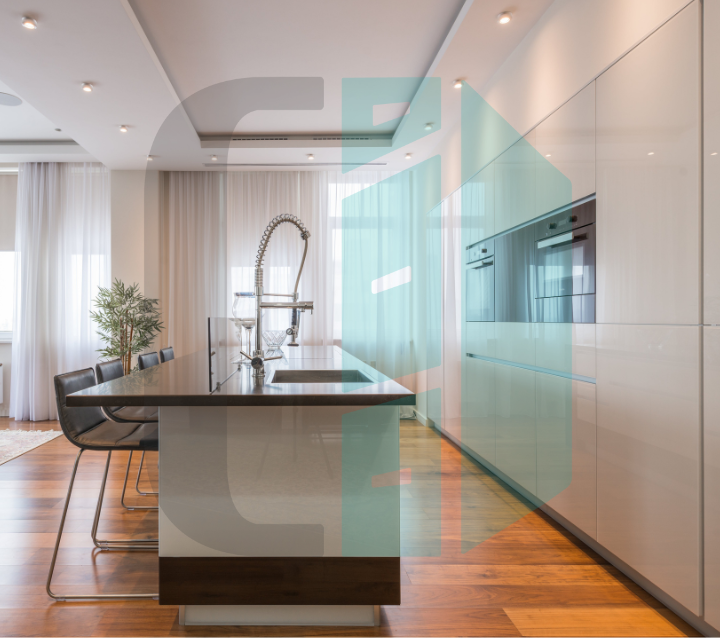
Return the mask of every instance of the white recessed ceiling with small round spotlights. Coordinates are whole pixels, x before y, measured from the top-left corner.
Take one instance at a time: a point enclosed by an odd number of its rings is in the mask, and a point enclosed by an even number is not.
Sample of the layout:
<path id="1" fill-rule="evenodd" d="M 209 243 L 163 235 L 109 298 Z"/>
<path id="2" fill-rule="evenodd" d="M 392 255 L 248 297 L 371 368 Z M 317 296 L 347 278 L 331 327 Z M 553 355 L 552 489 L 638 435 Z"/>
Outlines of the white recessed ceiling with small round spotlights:
<path id="1" fill-rule="evenodd" d="M 433 73 L 443 80 L 442 130 L 378 160 L 388 168 L 406 168 L 406 151 L 413 162 L 431 154 L 459 113 L 460 92 L 452 80 L 462 77 L 480 88 L 552 0 L 467 1 L 472 6 Z M 464 4 L 467 8 L 464 0 L 6 2 L 0 6 L 0 56 L 12 64 L 0 67 L 0 91 L 25 102 L 0 107 L 0 147 L 11 140 L 62 136 L 79 144 L 78 153 L 110 168 L 144 168 L 179 100 L 220 82 L 260 77 L 322 78 L 322 109 L 254 111 L 222 132 L 337 134 L 342 79 L 425 76 Z M 505 10 L 513 11 L 514 19 L 503 27 L 495 16 Z M 23 15 L 36 18 L 38 29 L 22 28 Z M 82 82 L 92 82 L 95 90 L 84 93 Z M 190 121 L 201 121 L 188 111 Z M 121 124 L 128 133 L 119 132 Z M 193 131 L 188 139 L 195 137 Z M 192 153 L 177 153 L 172 165 L 158 158 L 154 166 L 202 170 L 212 151 L 200 149 L 199 140 L 188 144 Z M 307 163 L 308 152 L 317 163 L 340 161 L 339 148 L 300 147 L 230 149 L 228 162 Z"/>

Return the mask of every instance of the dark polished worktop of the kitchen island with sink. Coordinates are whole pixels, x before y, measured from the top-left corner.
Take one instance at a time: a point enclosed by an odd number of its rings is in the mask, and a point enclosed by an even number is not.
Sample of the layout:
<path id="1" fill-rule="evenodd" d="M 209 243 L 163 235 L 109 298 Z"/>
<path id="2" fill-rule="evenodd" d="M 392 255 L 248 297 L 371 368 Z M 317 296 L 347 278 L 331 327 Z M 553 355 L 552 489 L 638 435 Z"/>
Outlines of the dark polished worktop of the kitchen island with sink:
<path id="1" fill-rule="evenodd" d="M 224 363 L 224 359 L 229 361 L 230 357 L 222 350 L 218 349 L 214 359 L 218 363 L 213 364 L 212 383 L 215 389 L 212 392 L 208 352 L 200 350 L 70 394 L 67 405 L 332 406 L 380 405 L 390 401 L 402 405 L 415 403 L 415 395 L 410 390 L 337 346 L 283 347 L 284 357 L 265 363 L 265 378 L 260 382 L 252 378 L 248 367 L 238 370 L 235 364 Z M 276 371 L 288 370 L 358 370 L 370 382 L 274 382 Z M 282 379 L 282 375 L 278 376 Z M 318 374 L 313 381 L 321 381 L 323 376 L 327 375 Z"/>

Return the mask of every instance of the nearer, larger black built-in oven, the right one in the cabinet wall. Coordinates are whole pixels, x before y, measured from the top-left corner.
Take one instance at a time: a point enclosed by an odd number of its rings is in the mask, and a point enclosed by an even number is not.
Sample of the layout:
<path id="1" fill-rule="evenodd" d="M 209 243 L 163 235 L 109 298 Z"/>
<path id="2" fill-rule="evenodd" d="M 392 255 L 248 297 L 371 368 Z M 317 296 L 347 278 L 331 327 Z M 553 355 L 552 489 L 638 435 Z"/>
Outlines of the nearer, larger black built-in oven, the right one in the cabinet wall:
<path id="1" fill-rule="evenodd" d="M 595 200 L 535 224 L 535 321 L 595 322 Z"/>

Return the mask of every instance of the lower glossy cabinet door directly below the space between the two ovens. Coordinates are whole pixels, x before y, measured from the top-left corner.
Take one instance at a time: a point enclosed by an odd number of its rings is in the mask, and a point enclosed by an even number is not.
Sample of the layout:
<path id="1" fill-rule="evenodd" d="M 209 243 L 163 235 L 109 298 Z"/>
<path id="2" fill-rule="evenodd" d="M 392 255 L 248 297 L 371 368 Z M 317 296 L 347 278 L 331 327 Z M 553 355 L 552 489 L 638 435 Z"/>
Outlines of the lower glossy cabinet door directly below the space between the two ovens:
<path id="1" fill-rule="evenodd" d="M 495 366 L 495 465 L 531 494 L 537 475 L 536 375 L 515 366 Z"/>

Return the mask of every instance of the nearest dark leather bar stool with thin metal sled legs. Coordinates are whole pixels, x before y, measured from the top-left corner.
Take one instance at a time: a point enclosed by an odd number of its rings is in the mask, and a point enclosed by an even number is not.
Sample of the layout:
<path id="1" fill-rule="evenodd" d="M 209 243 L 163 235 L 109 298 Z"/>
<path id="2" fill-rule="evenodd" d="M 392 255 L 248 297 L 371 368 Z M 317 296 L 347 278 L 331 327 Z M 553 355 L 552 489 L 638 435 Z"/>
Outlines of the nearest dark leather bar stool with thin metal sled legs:
<path id="1" fill-rule="evenodd" d="M 78 370 L 76 372 L 68 372 L 55 377 L 55 398 L 57 401 L 58 420 L 60 421 L 60 426 L 62 427 L 63 434 L 68 441 L 80 448 L 80 450 L 75 457 L 75 465 L 73 466 L 73 471 L 70 475 L 70 485 L 68 486 L 65 506 L 63 507 L 62 517 L 60 518 L 60 527 L 55 541 L 55 548 L 50 562 L 50 571 L 48 572 L 45 589 L 48 595 L 56 600 L 157 598 L 157 593 L 64 595 L 55 594 L 50 588 L 53 572 L 55 571 L 58 549 L 60 548 L 60 540 L 65 527 L 65 518 L 67 517 L 70 497 L 72 496 L 73 485 L 75 483 L 75 476 L 77 474 L 78 465 L 80 464 L 80 457 L 86 450 L 108 453 L 91 532 L 91 537 L 95 547 L 101 550 L 156 550 L 158 548 L 159 539 L 157 538 L 124 538 L 112 540 L 99 540 L 97 538 L 100 512 L 102 510 L 105 485 L 107 483 L 112 453 L 114 451 L 132 452 L 134 450 L 157 450 L 158 426 L 157 423 L 117 423 L 108 421 L 102 410 L 96 407 L 67 407 L 66 399 L 68 394 L 72 394 L 73 392 L 78 392 L 86 388 L 91 388 L 94 385 L 95 373 L 92 368 Z"/>

